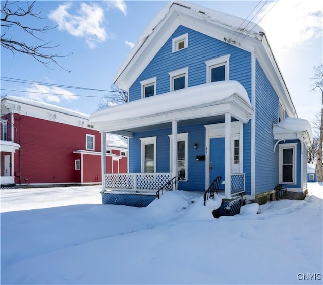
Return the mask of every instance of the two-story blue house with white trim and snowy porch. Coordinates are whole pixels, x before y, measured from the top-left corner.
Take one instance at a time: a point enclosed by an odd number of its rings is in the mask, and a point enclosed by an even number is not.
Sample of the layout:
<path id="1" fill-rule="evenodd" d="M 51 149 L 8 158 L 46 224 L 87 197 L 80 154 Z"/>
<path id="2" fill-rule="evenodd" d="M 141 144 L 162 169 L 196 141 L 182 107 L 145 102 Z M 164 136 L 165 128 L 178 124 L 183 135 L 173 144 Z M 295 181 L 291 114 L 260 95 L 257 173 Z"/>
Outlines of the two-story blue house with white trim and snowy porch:
<path id="1" fill-rule="evenodd" d="M 218 176 L 229 201 L 264 203 L 277 185 L 306 191 L 311 127 L 263 29 L 243 21 L 186 2 L 151 21 L 116 75 L 128 102 L 90 116 L 102 149 L 106 133 L 129 138 L 128 173 L 105 174 L 102 195 L 144 195 L 174 177 L 173 187 L 203 193 Z"/>

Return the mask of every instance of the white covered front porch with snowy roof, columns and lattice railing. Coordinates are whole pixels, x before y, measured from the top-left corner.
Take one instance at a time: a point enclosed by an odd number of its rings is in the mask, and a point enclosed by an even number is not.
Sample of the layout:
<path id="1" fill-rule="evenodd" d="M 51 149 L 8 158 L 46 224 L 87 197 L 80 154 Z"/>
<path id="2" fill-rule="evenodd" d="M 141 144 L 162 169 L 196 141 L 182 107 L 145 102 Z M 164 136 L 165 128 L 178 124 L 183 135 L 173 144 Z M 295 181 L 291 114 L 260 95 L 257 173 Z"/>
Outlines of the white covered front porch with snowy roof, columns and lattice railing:
<path id="1" fill-rule="evenodd" d="M 90 116 L 90 121 L 101 131 L 102 153 L 105 153 L 106 133 L 113 133 L 132 138 L 137 132 L 153 131 L 169 128 L 170 171 L 167 173 L 140 172 L 127 174 L 106 174 L 106 165 L 102 159 L 102 193 L 146 192 L 155 193 L 163 184 L 178 172 L 178 129 L 182 126 L 204 124 L 204 140 L 209 140 L 206 133 L 208 124 L 221 122 L 221 136 L 224 138 L 224 175 L 222 177 L 223 193 L 226 198 L 245 191 L 245 174 L 232 173 L 231 139 L 236 129 L 236 122 L 248 123 L 253 113 L 250 99 L 244 87 L 236 81 L 222 81 L 193 86 L 173 92 L 168 92 L 126 104 L 100 110 Z M 205 160 L 205 187 L 211 184 L 209 176 L 209 148 L 205 144 L 203 155 Z M 140 150 L 139 150 L 140 151 Z M 131 155 L 131 153 L 129 153 Z M 197 160 L 197 159 L 196 159 Z M 242 169 L 242 167 L 241 167 Z M 174 188 L 173 186 L 172 188 Z M 203 192 L 202 192 L 203 193 Z M 202 194 L 201 193 L 201 194 Z"/>

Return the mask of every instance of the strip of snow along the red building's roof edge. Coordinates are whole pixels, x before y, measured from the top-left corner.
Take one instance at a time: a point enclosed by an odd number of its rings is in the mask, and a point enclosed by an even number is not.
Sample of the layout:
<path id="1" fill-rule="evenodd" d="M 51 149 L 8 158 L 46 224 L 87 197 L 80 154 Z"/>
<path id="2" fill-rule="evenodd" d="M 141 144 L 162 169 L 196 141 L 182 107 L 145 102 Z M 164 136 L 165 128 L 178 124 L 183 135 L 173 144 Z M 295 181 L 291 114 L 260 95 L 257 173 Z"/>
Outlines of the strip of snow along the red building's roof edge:
<path id="1" fill-rule="evenodd" d="M 27 99 L 27 98 L 24 98 L 24 97 L 7 96 L 6 95 L 6 96 L 1 96 L 1 101 L 3 101 L 3 100 L 13 101 L 13 102 L 21 103 L 21 104 L 27 104 L 27 105 L 35 106 L 35 107 L 42 108 L 42 109 L 48 109 L 48 110 L 52 110 L 52 111 L 55 111 L 55 112 L 64 113 L 66 115 L 80 117 L 80 118 L 83 118 L 83 119 L 86 119 L 86 120 L 89 119 L 89 115 L 87 115 L 87 114 L 80 113 L 80 112 L 70 110 L 70 109 L 66 109 L 66 108 L 62 108 L 62 107 L 59 107 L 59 106 L 47 104 L 47 103 L 44 103 L 44 102 L 39 102 L 39 101 Z"/>

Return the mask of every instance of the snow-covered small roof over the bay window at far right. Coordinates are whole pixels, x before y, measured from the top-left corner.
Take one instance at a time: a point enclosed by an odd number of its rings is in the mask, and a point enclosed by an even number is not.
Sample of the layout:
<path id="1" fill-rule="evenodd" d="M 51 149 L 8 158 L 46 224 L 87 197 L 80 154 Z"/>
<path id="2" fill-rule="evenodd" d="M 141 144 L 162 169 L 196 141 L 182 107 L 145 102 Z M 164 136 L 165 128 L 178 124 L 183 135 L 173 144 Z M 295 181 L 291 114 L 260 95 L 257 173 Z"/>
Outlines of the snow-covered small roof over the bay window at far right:
<path id="1" fill-rule="evenodd" d="M 312 127 L 305 119 L 286 118 L 282 122 L 273 125 L 275 140 L 296 140 L 304 142 L 307 148 L 313 143 Z"/>

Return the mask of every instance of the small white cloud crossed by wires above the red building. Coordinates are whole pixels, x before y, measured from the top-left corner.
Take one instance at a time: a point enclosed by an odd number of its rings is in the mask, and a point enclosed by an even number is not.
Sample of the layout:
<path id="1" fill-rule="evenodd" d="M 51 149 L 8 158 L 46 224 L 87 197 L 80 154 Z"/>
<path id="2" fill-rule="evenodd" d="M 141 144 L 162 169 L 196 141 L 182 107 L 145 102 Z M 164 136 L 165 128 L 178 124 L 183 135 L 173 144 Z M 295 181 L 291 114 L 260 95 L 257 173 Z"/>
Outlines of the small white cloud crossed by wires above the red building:
<path id="1" fill-rule="evenodd" d="M 61 100 L 71 102 L 72 100 L 77 100 L 77 96 L 70 91 L 67 91 L 60 87 L 55 86 L 44 86 L 33 84 L 31 87 L 26 88 L 28 93 L 27 97 L 40 101 L 40 102 L 49 102 L 49 103 L 60 103 Z M 33 93 L 38 92 L 38 93 Z M 40 94 L 44 93 L 44 94 Z M 56 95 L 63 94 L 63 95 Z"/>

